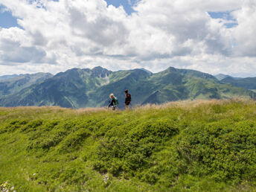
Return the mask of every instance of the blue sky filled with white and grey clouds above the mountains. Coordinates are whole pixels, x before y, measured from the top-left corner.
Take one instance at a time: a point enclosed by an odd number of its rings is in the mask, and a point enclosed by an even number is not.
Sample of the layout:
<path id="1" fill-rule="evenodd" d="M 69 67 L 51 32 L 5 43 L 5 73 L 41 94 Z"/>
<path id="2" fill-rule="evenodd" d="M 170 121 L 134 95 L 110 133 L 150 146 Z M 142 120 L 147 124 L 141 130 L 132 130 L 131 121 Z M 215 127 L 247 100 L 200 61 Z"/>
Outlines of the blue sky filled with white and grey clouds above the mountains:
<path id="1" fill-rule="evenodd" d="M 255 0 L 0 0 L 0 75 L 170 66 L 256 77 Z"/>

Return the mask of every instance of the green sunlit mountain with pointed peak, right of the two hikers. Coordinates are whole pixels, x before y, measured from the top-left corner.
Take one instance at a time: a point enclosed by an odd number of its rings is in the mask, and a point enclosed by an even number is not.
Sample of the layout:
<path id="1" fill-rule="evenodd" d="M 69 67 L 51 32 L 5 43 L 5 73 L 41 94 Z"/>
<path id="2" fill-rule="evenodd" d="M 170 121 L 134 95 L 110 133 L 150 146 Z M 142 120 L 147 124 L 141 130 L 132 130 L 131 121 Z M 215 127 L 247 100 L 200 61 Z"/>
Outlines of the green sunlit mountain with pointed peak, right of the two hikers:
<path id="1" fill-rule="evenodd" d="M 172 100 L 255 97 L 246 89 L 221 84 L 215 77 L 199 71 L 168 68 L 150 77 L 153 92 L 144 103 L 164 103 Z"/>

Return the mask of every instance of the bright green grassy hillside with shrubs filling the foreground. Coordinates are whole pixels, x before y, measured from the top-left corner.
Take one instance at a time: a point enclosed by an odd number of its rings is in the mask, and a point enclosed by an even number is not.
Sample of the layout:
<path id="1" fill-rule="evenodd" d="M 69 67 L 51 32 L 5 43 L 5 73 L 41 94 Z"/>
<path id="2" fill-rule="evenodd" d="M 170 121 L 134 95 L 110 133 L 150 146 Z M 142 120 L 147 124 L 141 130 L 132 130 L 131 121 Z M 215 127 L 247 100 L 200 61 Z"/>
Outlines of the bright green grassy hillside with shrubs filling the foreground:
<path id="1" fill-rule="evenodd" d="M 0 108 L 0 167 L 16 191 L 255 191 L 256 105 Z"/>

